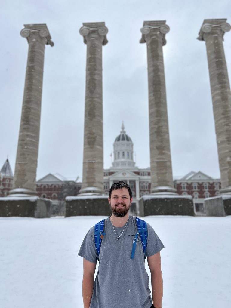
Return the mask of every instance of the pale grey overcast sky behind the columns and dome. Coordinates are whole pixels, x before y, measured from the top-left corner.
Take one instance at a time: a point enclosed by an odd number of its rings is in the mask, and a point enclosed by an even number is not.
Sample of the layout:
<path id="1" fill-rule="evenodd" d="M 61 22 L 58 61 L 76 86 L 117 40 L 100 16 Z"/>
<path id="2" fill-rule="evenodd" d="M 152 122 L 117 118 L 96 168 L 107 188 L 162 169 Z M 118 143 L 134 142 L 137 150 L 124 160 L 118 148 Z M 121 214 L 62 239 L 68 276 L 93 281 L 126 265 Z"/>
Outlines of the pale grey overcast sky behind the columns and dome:
<path id="1" fill-rule="evenodd" d="M 227 18 L 230 0 L 211 1 L 31 1 L 1 3 L 0 168 L 7 155 L 14 171 L 28 43 L 23 24 L 46 23 L 54 47 L 46 45 L 37 179 L 59 172 L 82 177 L 86 45 L 82 22 L 105 22 L 103 46 L 104 168 L 122 120 L 134 143 L 136 165 L 150 164 L 144 20 L 166 20 L 163 47 L 173 176 L 202 171 L 219 178 L 217 143 L 205 42 L 196 38 L 204 19 Z M 231 74 L 231 31 L 224 36 Z"/>

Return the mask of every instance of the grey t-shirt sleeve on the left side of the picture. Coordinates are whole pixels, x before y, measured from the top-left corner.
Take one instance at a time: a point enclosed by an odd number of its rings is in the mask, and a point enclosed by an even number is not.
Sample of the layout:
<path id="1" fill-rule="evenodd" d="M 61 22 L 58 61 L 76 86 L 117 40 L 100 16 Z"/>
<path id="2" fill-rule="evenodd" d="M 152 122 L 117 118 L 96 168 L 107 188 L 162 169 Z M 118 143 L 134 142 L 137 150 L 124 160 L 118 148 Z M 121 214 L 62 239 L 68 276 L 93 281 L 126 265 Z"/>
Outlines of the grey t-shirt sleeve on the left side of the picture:
<path id="1" fill-rule="evenodd" d="M 97 262 L 97 252 L 94 239 L 95 227 L 92 227 L 84 237 L 83 243 L 79 249 L 78 255 L 87 261 Z"/>

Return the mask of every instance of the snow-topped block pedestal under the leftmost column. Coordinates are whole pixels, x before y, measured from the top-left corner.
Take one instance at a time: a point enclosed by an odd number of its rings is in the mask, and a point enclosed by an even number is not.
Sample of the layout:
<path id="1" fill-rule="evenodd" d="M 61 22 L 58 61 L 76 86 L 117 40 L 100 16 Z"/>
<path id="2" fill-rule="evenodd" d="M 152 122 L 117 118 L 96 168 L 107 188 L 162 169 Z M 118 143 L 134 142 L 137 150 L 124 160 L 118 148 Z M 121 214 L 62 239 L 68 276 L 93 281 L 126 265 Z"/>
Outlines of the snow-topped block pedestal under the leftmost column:
<path id="1" fill-rule="evenodd" d="M 30 196 L 26 194 L 14 194 L 0 197 L 0 217 L 51 217 L 51 200 Z"/>

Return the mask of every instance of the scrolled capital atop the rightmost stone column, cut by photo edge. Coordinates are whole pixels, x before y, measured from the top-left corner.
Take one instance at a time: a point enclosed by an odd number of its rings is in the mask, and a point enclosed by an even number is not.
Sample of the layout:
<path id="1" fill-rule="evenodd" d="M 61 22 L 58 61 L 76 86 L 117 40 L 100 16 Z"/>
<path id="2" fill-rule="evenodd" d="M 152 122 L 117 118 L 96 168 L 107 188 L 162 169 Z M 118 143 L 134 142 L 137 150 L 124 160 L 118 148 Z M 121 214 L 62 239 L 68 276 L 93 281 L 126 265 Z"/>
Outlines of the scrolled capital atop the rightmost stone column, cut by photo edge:
<path id="1" fill-rule="evenodd" d="M 225 32 L 231 30 L 227 19 L 205 19 L 199 31 L 198 40 L 206 41 L 210 35 L 219 35 L 222 39 Z"/>

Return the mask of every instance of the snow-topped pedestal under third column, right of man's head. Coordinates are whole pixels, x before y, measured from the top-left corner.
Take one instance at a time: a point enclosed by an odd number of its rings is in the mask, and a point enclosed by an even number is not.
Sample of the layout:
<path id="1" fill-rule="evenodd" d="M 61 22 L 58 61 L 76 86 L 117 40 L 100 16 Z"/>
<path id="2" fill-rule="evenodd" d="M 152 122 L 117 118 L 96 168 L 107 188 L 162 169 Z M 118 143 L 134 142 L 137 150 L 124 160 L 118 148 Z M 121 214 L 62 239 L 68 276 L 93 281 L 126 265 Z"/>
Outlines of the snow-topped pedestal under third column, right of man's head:
<path id="1" fill-rule="evenodd" d="M 140 216 L 188 215 L 195 216 L 192 196 L 144 195 L 139 200 Z"/>

